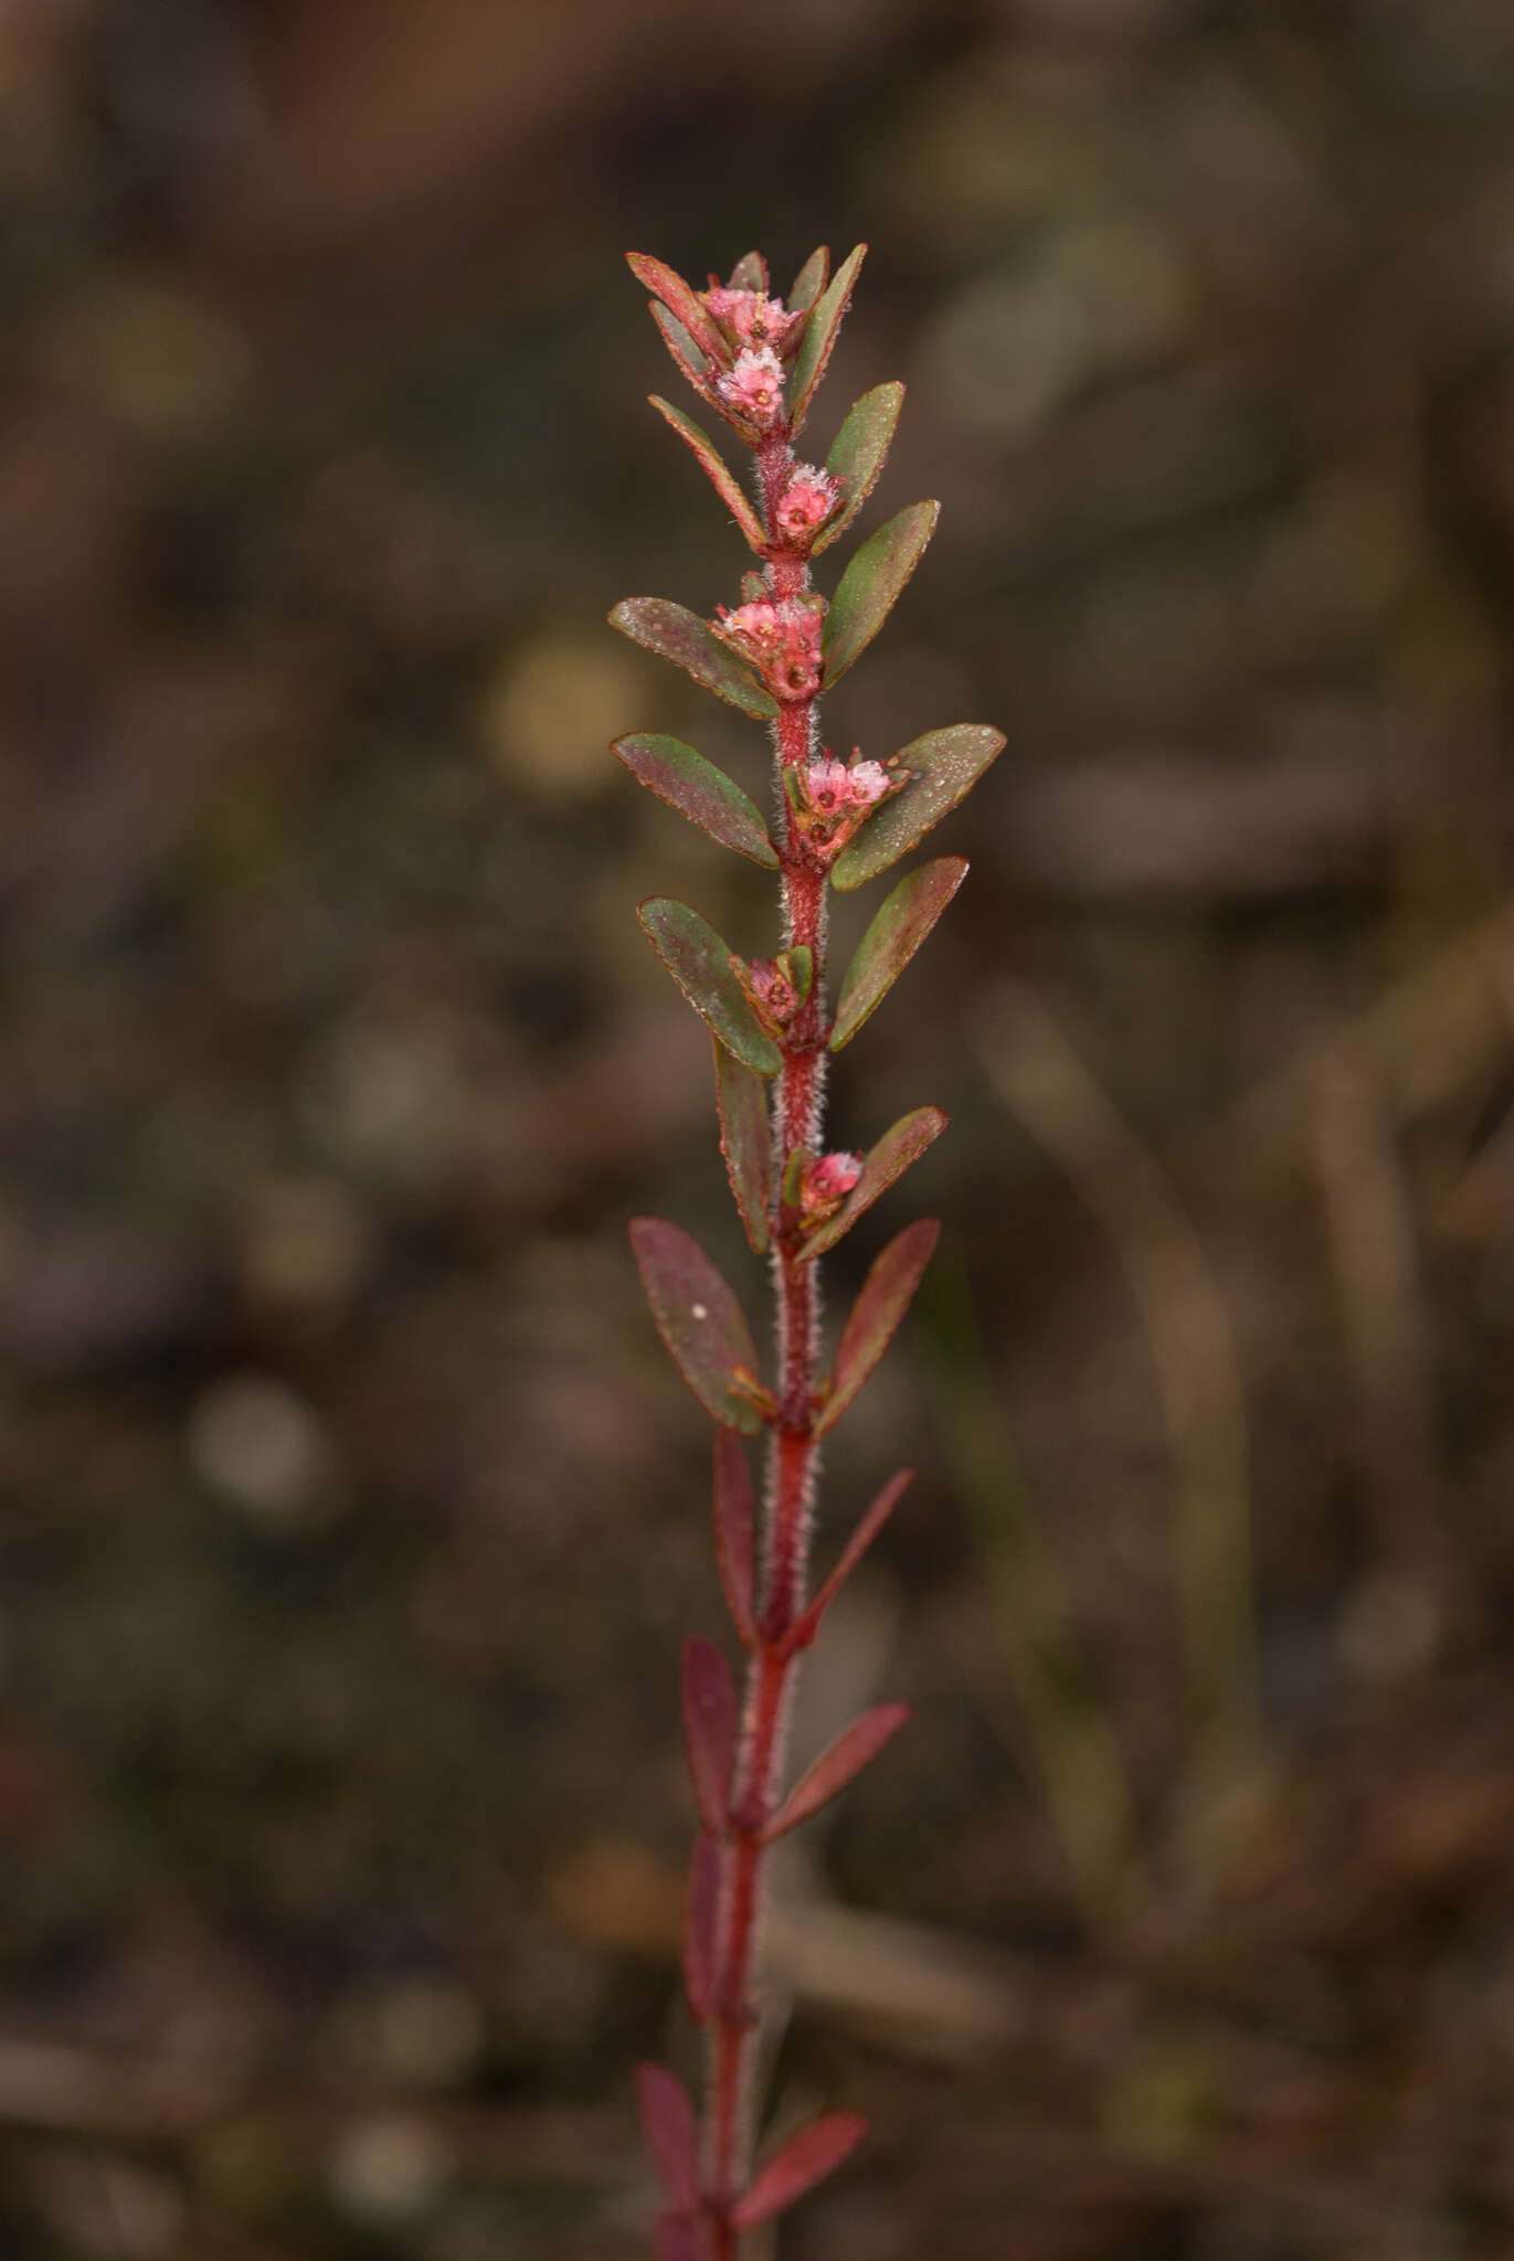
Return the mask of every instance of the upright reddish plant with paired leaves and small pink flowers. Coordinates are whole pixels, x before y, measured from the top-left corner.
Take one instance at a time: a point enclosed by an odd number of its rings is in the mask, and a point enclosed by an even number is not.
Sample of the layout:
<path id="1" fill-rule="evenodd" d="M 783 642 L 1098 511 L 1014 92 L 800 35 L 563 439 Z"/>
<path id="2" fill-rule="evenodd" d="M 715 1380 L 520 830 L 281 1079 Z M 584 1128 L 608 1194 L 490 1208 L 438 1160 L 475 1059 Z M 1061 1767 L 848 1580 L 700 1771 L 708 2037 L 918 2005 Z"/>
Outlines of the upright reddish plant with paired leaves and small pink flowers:
<path id="1" fill-rule="evenodd" d="M 821 1436 L 858 1395 L 935 1246 L 932 1221 L 883 1250 L 821 1375 L 819 1255 L 946 1126 L 939 1108 L 894 1124 L 867 1155 L 824 1153 L 826 1054 L 849 1042 L 955 893 L 966 864 L 944 857 L 910 873 L 880 907 L 842 986 L 826 995 L 826 893 L 858 886 L 917 846 L 969 791 L 1003 739 L 980 724 L 932 730 L 887 762 L 835 760 L 819 744 L 819 692 L 883 626 L 935 527 L 914 504 L 855 552 L 826 604 L 810 561 L 855 516 L 887 457 L 903 387 L 867 393 L 844 421 L 826 468 L 801 464 L 794 436 L 846 312 L 862 246 L 835 280 L 824 251 L 788 305 L 767 294 L 749 253 L 731 283 L 695 292 L 659 260 L 631 258 L 654 292 L 663 339 L 702 400 L 754 450 L 758 509 L 711 439 L 679 409 L 659 412 L 690 445 L 760 561 L 738 610 L 702 622 L 659 597 L 631 597 L 611 620 L 772 728 L 778 839 L 745 791 L 679 739 L 627 737 L 616 753 L 659 798 L 724 846 L 776 870 L 783 947 L 745 961 L 688 904 L 654 898 L 643 927 L 715 1038 L 722 1149 L 751 1246 L 772 1255 L 776 1375 L 765 1388 L 740 1311 L 715 1264 L 679 1228 L 643 1216 L 631 1241 L 663 1339 L 717 1424 L 715 1540 L 736 1632 L 747 1651 L 738 1693 L 724 1653 L 693 1639 L 683 1653 L 683 1725 L 702 1836 L 690 1865 L 683 1976 L 706 2035 L 704 2105 L 695 2112 L 663 2067 L 638 2076 L 643 2119 L 663 2184 L 659 2261 L 731 2261 L 747 2229 L 769 2220 L 860 2141 L 853 2112 L 828 2112 L 756 2171 L 754 2055 L 758 1933 L 767 1849 L 819 1811 L 903 1725 L 903 1705 L 867 1712 L 785 1791 L 785 1730 L 799 1657 L 883 1528 L 907 1472 L 858 1524 L 835 1571 L 810 1599 L 810 1535 Z M 765 1097 L 765 1085 L 772 1094 Z M 767 1431 L 767 1488 L 754 1558 L 742 1436 Z"/>

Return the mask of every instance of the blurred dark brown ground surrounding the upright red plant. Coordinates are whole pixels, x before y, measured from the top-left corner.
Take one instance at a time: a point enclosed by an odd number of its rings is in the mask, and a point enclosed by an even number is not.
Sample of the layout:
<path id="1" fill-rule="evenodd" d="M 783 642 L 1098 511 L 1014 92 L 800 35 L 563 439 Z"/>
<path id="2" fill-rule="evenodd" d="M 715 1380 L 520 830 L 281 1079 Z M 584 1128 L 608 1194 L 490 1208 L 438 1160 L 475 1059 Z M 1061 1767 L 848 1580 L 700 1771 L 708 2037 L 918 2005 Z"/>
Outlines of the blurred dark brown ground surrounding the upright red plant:
<path id="1" fill-rule="evenodd" d="M 647 2250 L 722 1617 L 625 1221 L 765 1282 L 634 904 L 772 907 L 604 751 L 763 791 L 604 626 L 742 565 L 622 251 L 858 237 L 812 452 L 903 378 L 944 516 L 831 737 L 1009 748 L 835 1078 L 953 1128 L 831 1264 L 944 1219 L 781 2250 L 1512 2247 L 1507 0 L 2 0 L 7 2256 Z"/>

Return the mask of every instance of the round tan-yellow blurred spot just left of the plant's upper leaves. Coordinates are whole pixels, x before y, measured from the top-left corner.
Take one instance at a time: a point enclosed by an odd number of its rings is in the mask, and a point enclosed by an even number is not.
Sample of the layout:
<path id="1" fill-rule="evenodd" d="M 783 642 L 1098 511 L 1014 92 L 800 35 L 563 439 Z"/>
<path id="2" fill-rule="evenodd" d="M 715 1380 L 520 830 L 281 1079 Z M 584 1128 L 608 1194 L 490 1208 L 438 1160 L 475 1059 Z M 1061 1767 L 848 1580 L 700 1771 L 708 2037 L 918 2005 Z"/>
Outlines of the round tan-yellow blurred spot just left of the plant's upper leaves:
<path id="1" fill-rule="evenodd" d="M 484 690 L 480 730 L 491 760 L 536 794 L 584 798 L 622 780 L 609 742 L 643 701 L 636 660 L 607 629 L 543 635 L 511 653 Z"/>

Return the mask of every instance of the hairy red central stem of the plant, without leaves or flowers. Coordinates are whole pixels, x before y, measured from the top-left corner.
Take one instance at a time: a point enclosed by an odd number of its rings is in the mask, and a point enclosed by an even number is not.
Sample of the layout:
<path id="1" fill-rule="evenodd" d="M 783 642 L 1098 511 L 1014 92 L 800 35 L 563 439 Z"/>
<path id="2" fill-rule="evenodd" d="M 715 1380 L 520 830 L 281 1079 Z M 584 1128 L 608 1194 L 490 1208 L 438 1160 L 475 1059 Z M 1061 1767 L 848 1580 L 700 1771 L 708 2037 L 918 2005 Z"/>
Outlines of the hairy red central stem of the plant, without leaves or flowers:
<path id="1" fill-rule="evenodd" d="M 788 432 L 774 432 L 758 450 L 765 518 L 772 527 L 776 502 L 794 461 Z M 810 586 L 808 556 L 776 547 L 769 552 L 772 590 L 781 601 Z M 778 773 L 806 764 L 817 748 L 817 696 L 783 701 L 774 724 Z M 803 855 L 788 798 L 783 843 L 785 945 L 812 954 L 806 1004 L 781 1038 L 783 1069 L 774 1088 L 774 1185 L 783 1185 L 797 1146 L 819 1151 L 826 1063 L 826 875 Z M 763 1834 L 783 1800 L 785 1730 L 794 1700 L 799 1655 L 783 1655 L 783 1635 L 806 1603 L 810 1531 L 819 1447 L 815 1438 L 815 1386 L 819 1359 L 819 1282 L 815 1259 L 803 1262 L 797 1230 L 774 1219 L 774 1293 L 778 1320 L 778 1413 L 767 1463 L 767 1508 L 763 1522 L 763 1580 L 756 1596 L 756 1651 L 747 1666 L 742 1734 L 731 1782 L 731 1827 L 726 1836 L 720 1906 L 720 1992 L 708 2028 L 708 2087 L 704 2123 L 704 2186 L 713 2261 L 731 2261 L 740 2232 L 731 2209 L 751 2173 L 751 2073 L 758 2039 L 754 1967 L 765 1897 L 767 1847 Z"/>

